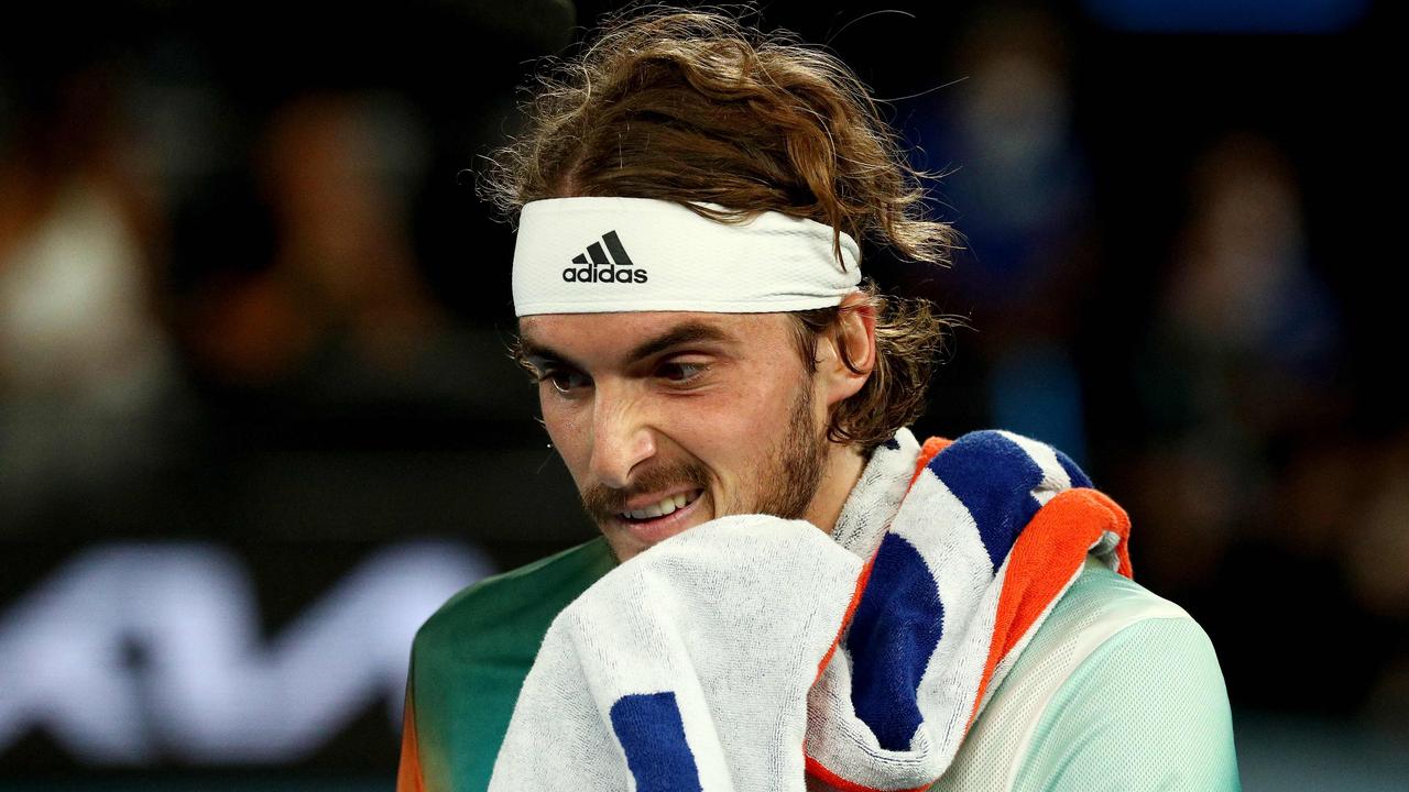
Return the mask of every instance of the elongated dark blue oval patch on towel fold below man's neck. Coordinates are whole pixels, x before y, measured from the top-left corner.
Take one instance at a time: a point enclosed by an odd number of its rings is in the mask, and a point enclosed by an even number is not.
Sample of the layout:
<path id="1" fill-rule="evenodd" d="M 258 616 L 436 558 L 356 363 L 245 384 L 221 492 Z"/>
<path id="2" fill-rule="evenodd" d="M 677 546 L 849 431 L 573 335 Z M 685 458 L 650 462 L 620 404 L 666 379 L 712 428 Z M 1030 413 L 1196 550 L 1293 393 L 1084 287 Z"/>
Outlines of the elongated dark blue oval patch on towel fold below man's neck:
<path id="1" fill-rule="evenodd" d="M 851 703 L 882 748 L 903 751 L 923 720 L 916 691 L 943 633 L 944 605 L 924 558 L 886 534 L 847 634 Z"/>

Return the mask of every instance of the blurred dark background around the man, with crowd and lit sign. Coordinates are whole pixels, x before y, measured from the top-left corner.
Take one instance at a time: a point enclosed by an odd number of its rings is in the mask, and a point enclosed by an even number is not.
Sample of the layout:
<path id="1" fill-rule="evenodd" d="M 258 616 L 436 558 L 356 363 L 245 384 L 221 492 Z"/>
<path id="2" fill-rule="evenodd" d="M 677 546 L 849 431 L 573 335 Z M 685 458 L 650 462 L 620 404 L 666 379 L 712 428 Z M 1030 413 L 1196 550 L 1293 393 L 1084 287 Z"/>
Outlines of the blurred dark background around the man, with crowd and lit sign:
<path id="1" fill-rule="evenodd" d="M 617 6 L 3 11 L 0 788 L 390 788 L 416 627 L 592 536 L 464 171 Z M 751 13 L 947 173 L 952 268 L 867 251 L 972 327 L 917 434 L 1047 440 L 1126 506 L 1247 789 L 1409 778 L 1384 6 Z"/>

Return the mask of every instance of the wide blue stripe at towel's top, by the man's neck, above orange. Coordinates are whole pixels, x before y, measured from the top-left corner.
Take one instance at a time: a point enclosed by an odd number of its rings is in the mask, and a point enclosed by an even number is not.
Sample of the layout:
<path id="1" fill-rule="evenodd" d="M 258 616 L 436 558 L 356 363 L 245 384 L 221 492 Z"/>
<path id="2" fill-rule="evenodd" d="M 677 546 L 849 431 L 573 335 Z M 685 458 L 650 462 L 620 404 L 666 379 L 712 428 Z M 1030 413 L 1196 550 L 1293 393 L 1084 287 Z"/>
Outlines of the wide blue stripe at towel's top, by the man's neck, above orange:
<path id="1" fill-rule="evenodd" d="M 1012 440 L 983 430 L 951 443 L 929 468 L 974 514 L 983 550 L 998 569 L 1041 506 L 1033 497 L 1043 481 L 1041 466 Z"/>

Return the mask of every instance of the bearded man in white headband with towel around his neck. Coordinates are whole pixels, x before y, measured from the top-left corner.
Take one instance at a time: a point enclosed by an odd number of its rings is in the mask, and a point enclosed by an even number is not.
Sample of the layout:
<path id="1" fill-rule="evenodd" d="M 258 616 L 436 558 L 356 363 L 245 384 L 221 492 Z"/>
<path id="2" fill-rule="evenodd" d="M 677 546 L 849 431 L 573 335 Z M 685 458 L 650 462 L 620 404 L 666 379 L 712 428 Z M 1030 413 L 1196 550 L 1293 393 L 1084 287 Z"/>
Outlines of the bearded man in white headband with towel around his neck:
<path id="1" fill-rule="evenodd" d="M 923 445 L 941 261 L 833 58 L 619 20 L 500 152 L 517 354 L 602 538 L 413 648 L 399 788 L 1236 789 L 1208 638 L 1123 510 L 1009 433 Z"/>

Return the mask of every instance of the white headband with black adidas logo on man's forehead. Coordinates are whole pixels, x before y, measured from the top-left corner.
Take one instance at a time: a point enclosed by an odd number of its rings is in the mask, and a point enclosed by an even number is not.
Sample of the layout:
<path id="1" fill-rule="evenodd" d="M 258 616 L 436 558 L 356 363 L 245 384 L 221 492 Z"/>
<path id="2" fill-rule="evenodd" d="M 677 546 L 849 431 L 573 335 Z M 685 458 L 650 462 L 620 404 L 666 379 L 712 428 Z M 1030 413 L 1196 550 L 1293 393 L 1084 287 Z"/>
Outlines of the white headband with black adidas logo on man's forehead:
<path id="1" fill-rule="evenodd" d="M 724 207 L 702 203 L 710 209 Z M 857 241 L 765 211 L 717 223 L 668 200 L 566 197 L 524 204 L 514 311 L 766 313 L 831 307 L 861 282 Z"/>

